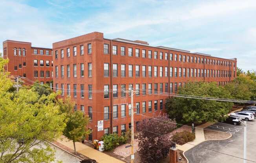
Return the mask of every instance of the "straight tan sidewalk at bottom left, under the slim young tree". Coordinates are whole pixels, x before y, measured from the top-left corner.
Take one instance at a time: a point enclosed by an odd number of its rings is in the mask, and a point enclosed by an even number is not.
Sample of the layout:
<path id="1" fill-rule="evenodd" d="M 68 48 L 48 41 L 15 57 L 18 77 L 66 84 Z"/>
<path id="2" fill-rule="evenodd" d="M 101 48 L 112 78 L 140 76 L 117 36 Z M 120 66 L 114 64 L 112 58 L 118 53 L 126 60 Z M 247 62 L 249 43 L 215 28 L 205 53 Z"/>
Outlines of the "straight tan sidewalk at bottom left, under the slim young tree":
<path id="1" fill-rule="evenodd" d="M 57 139 L 56 141 L 64 146 L 74 150 L 73 142 L 69 141 L 64 136 L 62 136 L 60 139 Z M 80 142 L 76 142 L 75 147 L 76 147 L 78 153 L 80 153 L 90 159 L 95 159 L 98 163 L 124 163 L 123 161 L 121 161 L 119 159 L 108 156 L 107 154 L 104 154 L 104 153 L 100 152 L 99 150 L 95 150 L 95 149 L 93 149 L 87 145 L 84 145 Z"/>

